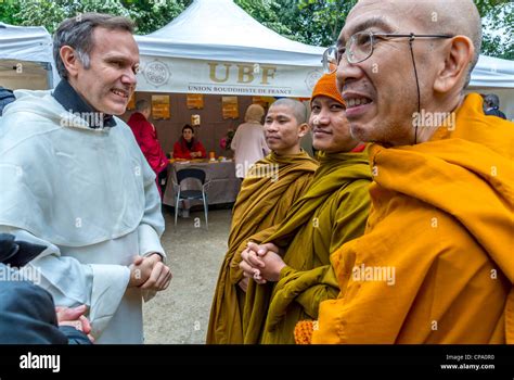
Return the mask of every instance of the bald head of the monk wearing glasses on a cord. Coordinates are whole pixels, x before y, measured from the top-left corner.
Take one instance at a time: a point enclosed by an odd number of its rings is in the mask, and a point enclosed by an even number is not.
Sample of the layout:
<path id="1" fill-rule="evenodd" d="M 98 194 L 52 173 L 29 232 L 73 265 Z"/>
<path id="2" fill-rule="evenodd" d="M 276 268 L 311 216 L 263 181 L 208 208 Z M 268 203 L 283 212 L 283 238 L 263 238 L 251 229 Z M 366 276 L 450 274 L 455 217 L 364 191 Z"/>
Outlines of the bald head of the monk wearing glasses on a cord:
<path id="1" fill-rule="evenodd" d="M 471 0 L 361 0 L 349 13 L 337 48 L 343 52 L 360 31 L 455 36 L 412 42 L 420 111 L 452 112 L 477 58 L 478 29 L 479 15 Z M 362 62 L 350 64 L 347 54 L 337 68 L 337 87 L 352 136 L 384 145 L 426 141 L 433 131 L 413 126 L 417 91 L 409 38 L 375 38 L 371 56 Z"/>

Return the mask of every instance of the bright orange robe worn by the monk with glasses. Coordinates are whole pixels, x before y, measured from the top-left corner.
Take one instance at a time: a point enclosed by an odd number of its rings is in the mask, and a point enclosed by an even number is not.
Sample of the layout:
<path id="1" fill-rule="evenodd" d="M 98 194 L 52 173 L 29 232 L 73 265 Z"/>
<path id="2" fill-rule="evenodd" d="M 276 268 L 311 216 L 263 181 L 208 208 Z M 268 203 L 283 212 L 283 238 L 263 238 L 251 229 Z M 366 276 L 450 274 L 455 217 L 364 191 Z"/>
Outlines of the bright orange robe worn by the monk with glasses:
<path id="1" fill-rule="evenodd" d="M 367 230 L 331 256 L 340 293 L 312 343 L 514 343 L 513 152 L 475 93 L 453 130 L 373 145 Z"/>

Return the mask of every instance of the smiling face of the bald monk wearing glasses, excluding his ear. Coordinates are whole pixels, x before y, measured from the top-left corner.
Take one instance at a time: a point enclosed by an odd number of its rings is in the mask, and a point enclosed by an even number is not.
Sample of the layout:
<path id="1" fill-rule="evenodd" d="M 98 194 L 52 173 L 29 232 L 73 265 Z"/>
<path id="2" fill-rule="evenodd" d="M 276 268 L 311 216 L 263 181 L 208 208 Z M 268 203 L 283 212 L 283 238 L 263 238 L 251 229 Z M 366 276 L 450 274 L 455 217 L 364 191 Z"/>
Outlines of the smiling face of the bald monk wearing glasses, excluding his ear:
<path id="1" fill-rule="evenodd" d="M 409 2 L 404 3 L 408 5 Z M 416 31 L 404 14 L 409 7 L 403 8 L 385 4 L 385 1 L 359 2 L 348 15 L 337 41 L 338 48 L 358 31 Z M 347 103 L 354 137 L 388 144 L 413 140 L 410 129 L 417 96 L 406 38 L 377 42 L 373 54 L 357 64 L 348 64 L 344 56 L 337 71 L 337 84 Z"/>

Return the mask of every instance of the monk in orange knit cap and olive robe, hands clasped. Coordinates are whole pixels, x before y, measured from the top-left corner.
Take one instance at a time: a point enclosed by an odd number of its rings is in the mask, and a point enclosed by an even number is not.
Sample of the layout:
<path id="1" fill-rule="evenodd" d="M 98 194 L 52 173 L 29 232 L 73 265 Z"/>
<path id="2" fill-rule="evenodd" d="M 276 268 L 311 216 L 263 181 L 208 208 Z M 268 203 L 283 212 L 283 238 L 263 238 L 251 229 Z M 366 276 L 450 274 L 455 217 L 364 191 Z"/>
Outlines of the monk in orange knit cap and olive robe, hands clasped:
<path id="1" fill-rule="evenodd" d="M 339 292 L 330 254 L 364 232 L 371 172 L 364 147 L 349 134 L 335 74 L 316 85 L 311 111 L 313 147 L 322 151 L 314 179 L 286 219 L 253 236 L 242 253 L 245 276 L 255 276 L 243 315 L 245 343 L 294 343 L 296 322 L 316 319 L 319 303 Z"/>

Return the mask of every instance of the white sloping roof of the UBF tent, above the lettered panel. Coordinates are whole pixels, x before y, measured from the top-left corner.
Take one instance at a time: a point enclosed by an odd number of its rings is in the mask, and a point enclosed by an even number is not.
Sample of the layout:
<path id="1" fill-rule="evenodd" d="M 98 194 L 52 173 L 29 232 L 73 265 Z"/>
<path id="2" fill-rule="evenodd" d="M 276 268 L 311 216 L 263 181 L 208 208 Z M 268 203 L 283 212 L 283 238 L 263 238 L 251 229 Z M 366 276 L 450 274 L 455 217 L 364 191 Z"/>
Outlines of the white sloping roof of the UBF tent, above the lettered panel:
<path id="1" fill-rule="evenodd" d="M 232 0 L 195 0 L 171 23 L 136 37 L 143 55 L 320 66 L 324 49 L 268 29 Z"/>

